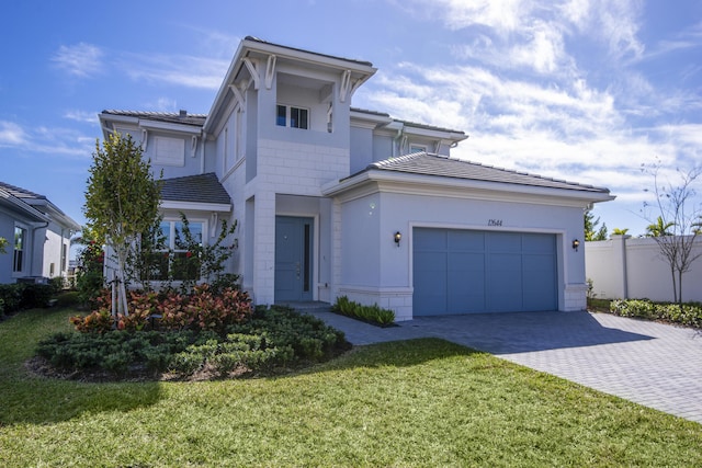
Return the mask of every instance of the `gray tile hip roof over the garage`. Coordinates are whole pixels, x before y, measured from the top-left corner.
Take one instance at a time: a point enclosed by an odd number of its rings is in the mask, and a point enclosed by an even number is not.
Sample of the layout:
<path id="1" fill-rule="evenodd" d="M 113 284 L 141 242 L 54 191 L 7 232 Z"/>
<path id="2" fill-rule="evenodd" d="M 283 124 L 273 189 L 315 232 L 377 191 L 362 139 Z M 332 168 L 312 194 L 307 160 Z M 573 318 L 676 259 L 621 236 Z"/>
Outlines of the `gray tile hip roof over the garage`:
<path id="1" fill-rule="evenodd" d="M 484 165 L 461 159 L 429 155 L 423 151 L 374 162 L 370 164 L 366 170 L 373 169 L 473 181 L 498 182 L 512 185 L 609 193 L 609 190 L 602 187 L 550 179 L 526 172 L 495 168 L 492 165 Z"/>

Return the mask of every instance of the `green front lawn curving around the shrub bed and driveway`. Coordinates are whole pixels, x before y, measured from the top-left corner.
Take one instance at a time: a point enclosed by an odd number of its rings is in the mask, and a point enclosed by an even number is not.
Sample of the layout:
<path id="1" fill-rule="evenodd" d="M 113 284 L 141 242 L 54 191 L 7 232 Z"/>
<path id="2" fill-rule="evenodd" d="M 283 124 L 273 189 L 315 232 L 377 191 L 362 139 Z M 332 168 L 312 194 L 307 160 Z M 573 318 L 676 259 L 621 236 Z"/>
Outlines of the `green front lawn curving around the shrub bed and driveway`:
<path id="1" fill-rule="evenodd" d="M 0 323 L 0 466 L 702 466 L 700 424 L 434 339 L 276 378 L 27 375 L 72 313 Z"/>

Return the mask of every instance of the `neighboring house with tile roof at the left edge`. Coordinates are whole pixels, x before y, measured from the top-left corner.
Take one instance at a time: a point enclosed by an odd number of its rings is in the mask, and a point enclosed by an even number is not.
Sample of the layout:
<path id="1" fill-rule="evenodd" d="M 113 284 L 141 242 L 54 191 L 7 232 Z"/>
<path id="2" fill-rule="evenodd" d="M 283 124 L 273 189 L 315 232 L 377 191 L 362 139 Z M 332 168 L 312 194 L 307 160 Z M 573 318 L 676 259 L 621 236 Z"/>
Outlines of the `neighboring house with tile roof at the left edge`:
<path id="1" fill-rule="evenodd" d="M 24 189 L 0 182 L 0 284 L 66 277 L 70 238 L 80 225 L 49 202 Z"/>

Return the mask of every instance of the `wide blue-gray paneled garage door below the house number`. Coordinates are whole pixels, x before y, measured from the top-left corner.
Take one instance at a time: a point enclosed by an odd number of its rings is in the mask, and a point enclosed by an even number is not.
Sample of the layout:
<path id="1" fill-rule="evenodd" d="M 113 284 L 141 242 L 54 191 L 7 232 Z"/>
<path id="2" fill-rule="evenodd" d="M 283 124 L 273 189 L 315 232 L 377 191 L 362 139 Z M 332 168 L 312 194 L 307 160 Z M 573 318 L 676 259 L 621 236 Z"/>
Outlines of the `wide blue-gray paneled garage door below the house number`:
<path id="1" fill-rule="evenodd" d="M 557 310 L 556 237 L 415 228 L 414 315 Z"/>

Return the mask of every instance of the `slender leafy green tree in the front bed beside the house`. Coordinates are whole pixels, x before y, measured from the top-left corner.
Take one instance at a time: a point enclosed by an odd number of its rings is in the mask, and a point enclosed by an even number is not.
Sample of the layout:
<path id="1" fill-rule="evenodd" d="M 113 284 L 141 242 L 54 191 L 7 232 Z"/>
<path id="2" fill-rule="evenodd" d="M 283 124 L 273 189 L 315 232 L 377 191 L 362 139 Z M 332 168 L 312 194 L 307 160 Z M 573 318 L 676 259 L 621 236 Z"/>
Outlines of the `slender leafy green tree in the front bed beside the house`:
<path id="1" fill-rule="evenodd" d="M 93 163 L 88 170 L 83 213 L 88 226 L 115 254 L 114 287 L 116 307 L 112 313 L 127 315 L 125 265 L 141 232 L 158 215 L 160 181 L 151 174 L 150 161 L 141 158 L 141 148 L 127 135 L 111 134 L 100 147 L 95 144 Z"/>

